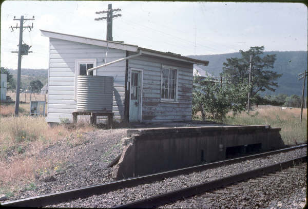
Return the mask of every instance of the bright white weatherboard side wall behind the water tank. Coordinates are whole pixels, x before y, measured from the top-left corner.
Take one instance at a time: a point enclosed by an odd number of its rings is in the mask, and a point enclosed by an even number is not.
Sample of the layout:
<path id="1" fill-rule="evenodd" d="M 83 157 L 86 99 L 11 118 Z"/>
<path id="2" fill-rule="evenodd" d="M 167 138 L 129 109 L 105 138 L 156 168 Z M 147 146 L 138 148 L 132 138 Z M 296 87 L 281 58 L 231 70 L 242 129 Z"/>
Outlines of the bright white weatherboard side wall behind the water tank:
<path id="1" fill-rule="evenodd" d="M 97 66 L 105 63 L 106 47 L 50 38 L 48 117 L 72 118 L 74 100 L 75 60 L 97 59 Z M 126 52 L 108 48 L 107 62 L 124 58 Z M 97 75 L 114 78 L 114 119 L 124 117 L 125 61 L 98 69 Z"/>

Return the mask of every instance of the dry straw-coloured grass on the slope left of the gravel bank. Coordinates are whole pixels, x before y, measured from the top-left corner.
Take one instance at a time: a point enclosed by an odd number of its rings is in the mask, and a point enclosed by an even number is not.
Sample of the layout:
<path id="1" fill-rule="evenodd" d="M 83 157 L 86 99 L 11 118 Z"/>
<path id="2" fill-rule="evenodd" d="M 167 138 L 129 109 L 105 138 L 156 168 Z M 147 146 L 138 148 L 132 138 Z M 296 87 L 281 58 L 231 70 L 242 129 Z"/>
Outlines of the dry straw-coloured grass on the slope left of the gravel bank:
<path id="1" fill-rule="evenodd" d="M 29 106 L 20 104 L 20 109 Z M 26 111 L 14 117 L 14 104 L 0 108 L 0 192 L 8 196 L 20 189 L 35 189 L 37 178 L 61 170 L 68 156 L 42 156 L 42 150 L 58 142 L 81 144 L 83 134 L 95 130 L 84 122 L 50 127 L 44 117 L 30 117 Z"/>

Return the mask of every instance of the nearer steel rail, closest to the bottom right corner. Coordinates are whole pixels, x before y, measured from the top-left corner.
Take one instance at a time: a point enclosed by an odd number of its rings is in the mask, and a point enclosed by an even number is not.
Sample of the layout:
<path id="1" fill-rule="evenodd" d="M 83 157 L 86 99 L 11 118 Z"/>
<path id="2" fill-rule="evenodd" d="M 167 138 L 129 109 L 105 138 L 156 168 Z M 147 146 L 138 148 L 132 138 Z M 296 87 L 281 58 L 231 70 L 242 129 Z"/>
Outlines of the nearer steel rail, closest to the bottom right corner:
<path id="1" fill-rule="evenodd" d="M 165 194 L 141 199 L 138 201 L 134 201 L 128 204 L 123 204 L 120 206 L 115 206 L 112 208 L 155 208 L 157 206 L 160 206 L 160 205 L 163 205 L 169 202 L 174 202 L 182 198 L 188 198 L 190 196 L 204 193 L 204 192 L 213 190 L 215 188 L 219 188 L 219 187 L 233 184 L 239 181 L 244 181 L 247 179 L 252 179 L 255 177 L 263 176 L 268 173 L 276 172 L 277 170 L 281 170 L 286 167 L 291 167 L 291 166 L 294 166 L 295 164 L 306 161 L 306 158 L 307 156 L 295 158 L 295 159 L 284 161 L 284 162 L 277 163 L 274 165 L 269 165 L 266 167 L 261 167 L 261 168 L 257 168 L 254 170 L 250 170 L 245 173 L 236 174 L 236 175 L 221 178 L 218 180 L 201 183 L 201 184 L 190 186 L 187 188 L 182 188 L 177 191 L 172 191 L 172 192 L 168 192 Z"/>

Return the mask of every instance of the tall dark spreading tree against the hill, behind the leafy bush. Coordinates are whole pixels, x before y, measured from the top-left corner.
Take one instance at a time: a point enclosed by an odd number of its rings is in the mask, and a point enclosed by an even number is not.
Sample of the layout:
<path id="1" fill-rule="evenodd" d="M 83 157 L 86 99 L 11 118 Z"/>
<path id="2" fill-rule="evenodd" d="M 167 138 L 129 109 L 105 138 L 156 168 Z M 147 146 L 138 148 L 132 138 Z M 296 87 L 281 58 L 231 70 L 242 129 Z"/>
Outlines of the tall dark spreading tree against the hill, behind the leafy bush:
<path id="1" fill-rule="evenodd" d="M 252 55 L 252 81 L 251 98 L 254 98 L 258 92 L 267 90 L 275 91 L 278 87 L 276 82 L 282 74 L 278 74 L 270 69 L 274 68 L 276 54 L 263 54 L 264 46 L 250 47 L 248 51 L 240 50 L 242 58 L 229 58 L 223 63 L 223 73 L 229 74 L 232 83 L 243 82 L 249 78 L 250 56 Z"/>

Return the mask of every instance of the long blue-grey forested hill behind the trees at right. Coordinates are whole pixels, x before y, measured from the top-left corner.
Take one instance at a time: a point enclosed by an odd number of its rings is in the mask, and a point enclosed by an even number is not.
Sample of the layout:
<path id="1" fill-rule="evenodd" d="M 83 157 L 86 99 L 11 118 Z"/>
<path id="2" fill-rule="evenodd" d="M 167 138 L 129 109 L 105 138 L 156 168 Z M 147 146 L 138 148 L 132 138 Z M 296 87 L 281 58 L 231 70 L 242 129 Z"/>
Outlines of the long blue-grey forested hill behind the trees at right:
<path id="1" fill-rule="evenodd" d="M 275 92 L 265 91 L 264 94 L 296 94 L 301 96 L 303 81 L 298 80 L 298 73 L 307 70 L 307 51 L 265 51 L 266 54 L 276 54 L 273 71 L 283 73 L 278 79 L 279 87 Z M 222 72 L 223 63 L 227 58 L 240 58 L 239 52 L 213 55 L 188 55 L 189 58 L 209 61 L 208 66 L 199 65 L 208 73 L 217 76 Z M 306 93 L 305 93 L 306 94 Z"/>

